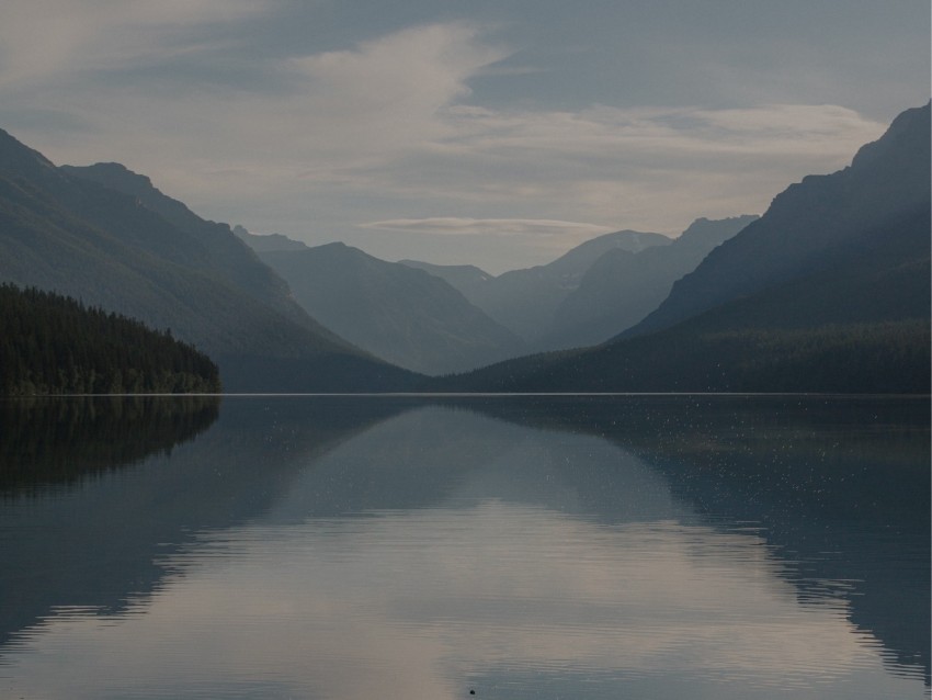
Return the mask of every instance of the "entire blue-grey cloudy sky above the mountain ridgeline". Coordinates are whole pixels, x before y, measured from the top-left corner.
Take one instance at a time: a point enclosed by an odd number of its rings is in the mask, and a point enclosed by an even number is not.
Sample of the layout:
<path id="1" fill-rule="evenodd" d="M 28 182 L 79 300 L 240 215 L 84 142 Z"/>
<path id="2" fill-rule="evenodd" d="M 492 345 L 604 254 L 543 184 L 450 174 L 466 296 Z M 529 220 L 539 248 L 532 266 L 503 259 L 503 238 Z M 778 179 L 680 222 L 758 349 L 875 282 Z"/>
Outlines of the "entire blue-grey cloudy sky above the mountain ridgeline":
<path id="1" fill-rule="evenodd" d="M 547 262 L 761 214 L 930 98 L 928 0 L 3 0 L 0 128 L 205 218 Z"/>

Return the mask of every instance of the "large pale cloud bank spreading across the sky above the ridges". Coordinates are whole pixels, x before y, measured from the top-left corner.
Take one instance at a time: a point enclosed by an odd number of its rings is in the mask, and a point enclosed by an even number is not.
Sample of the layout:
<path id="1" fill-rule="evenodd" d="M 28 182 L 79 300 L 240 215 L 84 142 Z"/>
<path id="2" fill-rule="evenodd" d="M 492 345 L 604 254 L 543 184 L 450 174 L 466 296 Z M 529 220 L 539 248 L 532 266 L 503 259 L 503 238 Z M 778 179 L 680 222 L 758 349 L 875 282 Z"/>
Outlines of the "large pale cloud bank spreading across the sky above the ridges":
<path id="1" fill-rule="evenodd" d="M 252 59 L 245 20 L 271 1 L 62 7 L 14 0 L 7 12 L 5 128 L 56 162 L 117 160 L 204 216 L 308 242 L 378 229 L 401 241 L 432 226 L 446 240 L 523 234 L 530 259 L 535 246 L 547 256 L 560 247 L 559 228 L 564 248 L 622 228 L 678 234 L 697 216 L 762 213 L 884 129 L 831 104 L 482 104 L 470 86 L 510 48 L 469 22 Z M 183 66 L 146 71 L 171 57 Z M 217 68 L 247 64 L 240 82 Z M 134 66 L 132 80 L 109 79 Z M 480 266 L 511 264 L 475 253 Z M 512 255 L 522 267 L 522 251 Z"/>

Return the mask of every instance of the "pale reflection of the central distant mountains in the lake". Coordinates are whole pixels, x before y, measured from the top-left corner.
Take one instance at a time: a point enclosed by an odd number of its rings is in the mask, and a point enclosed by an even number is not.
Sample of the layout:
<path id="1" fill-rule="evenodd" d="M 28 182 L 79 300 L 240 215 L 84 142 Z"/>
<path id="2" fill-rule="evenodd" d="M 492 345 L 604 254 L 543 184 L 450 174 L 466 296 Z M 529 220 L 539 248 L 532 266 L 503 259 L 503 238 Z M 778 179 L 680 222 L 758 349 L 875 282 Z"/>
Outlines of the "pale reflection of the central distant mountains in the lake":
<path id="1" fill-rule="evenodd" d="M 418 406 L 315 461 L 269 513 L 274 521 L 489 499 L 595 522 L 685 519 L 666 479 L 591 436 L 567 439 L 451 405 Z M 470 404 L 471 406 L 471 404 Z M 586 450 L 589 459 L 580 462 Z"/>

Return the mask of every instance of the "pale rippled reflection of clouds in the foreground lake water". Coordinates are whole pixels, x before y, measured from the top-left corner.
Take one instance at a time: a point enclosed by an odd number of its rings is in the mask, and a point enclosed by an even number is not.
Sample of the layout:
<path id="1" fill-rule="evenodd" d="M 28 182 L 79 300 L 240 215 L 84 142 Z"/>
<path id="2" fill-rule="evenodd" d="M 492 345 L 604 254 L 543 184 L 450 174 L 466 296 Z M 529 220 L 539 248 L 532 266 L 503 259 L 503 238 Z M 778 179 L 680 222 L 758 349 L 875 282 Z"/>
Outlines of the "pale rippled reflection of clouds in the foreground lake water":
<path id="1" fill-rule="evenodd" d="M 674 521 L 598 526 L 486 501 L 225 531 L 170 566 L 141 614 L 36 630 L 3 687 L 183 695 L 227 678 L 268 680 L 264 697 L 443 699 L 496 668 L 674 669 L 698 686 L 740 679 L 735 697 L 872 667 L 872 682 L 902 682 L 882 677 L 840 606 L 797 605 L 762 540 Z"/>

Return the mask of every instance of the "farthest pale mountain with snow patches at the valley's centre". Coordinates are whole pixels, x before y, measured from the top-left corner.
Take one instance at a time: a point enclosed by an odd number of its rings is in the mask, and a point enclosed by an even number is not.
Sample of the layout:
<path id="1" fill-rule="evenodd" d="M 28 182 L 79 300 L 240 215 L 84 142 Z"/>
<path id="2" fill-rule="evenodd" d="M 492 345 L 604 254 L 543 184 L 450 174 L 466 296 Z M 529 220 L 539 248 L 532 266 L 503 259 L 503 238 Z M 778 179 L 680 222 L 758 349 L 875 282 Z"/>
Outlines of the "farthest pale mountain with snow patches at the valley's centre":
<path id="1" fill-rule="evenodd" d="M 670 238 L 660 234 L 623 230 L 588 240 L 545 266 L 499 276 L 486 275 L 478 268 L 457 268 L 455 273 L 446 271 L 442 276 L 495 320 L 533 343 L 549 327 L 564 298 L 579 286 L 587 270 L 603 253 L 615 249 L 636 252 L 669 244 Z M 406 264 L 423 268 L 425 263 Z M 430 271 L 442 272 L 436 268 Z"/>

